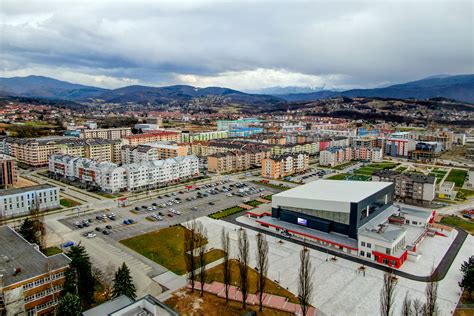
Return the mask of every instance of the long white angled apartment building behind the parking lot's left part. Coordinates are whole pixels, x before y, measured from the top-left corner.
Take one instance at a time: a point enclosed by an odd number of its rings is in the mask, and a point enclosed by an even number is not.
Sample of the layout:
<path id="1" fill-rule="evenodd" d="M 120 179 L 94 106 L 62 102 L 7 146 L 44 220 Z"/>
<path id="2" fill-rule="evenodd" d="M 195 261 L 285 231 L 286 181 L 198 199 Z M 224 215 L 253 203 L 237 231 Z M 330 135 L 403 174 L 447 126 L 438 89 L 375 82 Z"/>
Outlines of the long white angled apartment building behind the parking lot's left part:
<path id="1" fill-rule="evenodd" d="M 181 156 L 118 166 L 87 158 L 52 155 L 49 171 L 104 192 L 141 191 L 199 176 L 199 159 Z"/>

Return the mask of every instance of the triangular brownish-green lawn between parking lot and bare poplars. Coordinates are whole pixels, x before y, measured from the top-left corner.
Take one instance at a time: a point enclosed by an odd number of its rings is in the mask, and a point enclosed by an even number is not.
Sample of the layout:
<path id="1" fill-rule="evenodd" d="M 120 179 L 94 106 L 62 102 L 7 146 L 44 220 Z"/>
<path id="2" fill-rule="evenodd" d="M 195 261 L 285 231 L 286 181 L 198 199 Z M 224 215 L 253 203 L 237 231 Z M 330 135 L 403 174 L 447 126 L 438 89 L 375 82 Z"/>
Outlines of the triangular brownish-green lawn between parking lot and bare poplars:
<path id="1" fill-rule="evenodd" d="M 184 231 L 183 226 L 173 226 L 159 231 L 135 236 L 121 240 L 120 243 L 161 264 L 176 274 L 186 273 L 184 257 Z M 206 240 L 207 243 L 207 240 Z M 216 261 L 224 256 L 224 251 L 213 249 L 206 253 L 206 264 Z"/>

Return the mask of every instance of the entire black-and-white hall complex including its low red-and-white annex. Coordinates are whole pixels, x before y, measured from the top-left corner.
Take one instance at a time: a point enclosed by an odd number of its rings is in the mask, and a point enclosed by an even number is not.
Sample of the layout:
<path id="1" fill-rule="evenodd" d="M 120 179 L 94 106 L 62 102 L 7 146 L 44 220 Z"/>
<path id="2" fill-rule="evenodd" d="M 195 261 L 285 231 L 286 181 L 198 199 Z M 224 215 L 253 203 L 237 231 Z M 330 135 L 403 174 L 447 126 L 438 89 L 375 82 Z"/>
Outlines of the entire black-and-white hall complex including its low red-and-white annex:
<path id="1" fill-rule="evenodd" d="M 294 238 L 400 268 L 417 261 L 417 246 L 442 235 L 435 212 L 393 204 L 391 182 L 319 180 L 273 196 L 257 223 Z M 271 216 L 270 216 L 271 215 Z"/>

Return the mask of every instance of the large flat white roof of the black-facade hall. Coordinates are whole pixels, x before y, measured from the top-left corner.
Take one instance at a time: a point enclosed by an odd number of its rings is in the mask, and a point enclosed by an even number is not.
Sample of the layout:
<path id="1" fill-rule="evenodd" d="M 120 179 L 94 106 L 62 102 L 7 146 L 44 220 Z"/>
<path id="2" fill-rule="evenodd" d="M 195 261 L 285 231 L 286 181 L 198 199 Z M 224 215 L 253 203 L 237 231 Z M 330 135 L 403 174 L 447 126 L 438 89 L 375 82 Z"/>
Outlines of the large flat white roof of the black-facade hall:
<path id="1" fill-rule="evenodd" d="M 317 180 L 280 192 L 273 197 L 359 202 L 391 185 L 391 182 Z"/>

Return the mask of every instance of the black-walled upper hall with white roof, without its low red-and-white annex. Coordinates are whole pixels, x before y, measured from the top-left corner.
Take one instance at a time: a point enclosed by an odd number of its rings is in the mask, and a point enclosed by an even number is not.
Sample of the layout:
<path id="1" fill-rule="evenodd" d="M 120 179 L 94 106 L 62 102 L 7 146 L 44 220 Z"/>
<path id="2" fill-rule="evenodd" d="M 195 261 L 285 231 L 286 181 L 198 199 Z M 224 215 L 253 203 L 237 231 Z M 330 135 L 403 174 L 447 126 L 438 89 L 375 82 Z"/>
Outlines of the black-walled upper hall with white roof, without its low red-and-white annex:
<path id="1" fill-rule="evenodd" d="M 358 229 L 393 203 L 389 182 L 319 180 L 272 197 L 272 217 L 357 239 Z"/>

